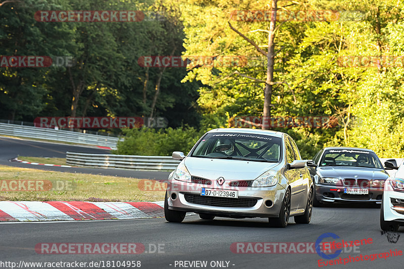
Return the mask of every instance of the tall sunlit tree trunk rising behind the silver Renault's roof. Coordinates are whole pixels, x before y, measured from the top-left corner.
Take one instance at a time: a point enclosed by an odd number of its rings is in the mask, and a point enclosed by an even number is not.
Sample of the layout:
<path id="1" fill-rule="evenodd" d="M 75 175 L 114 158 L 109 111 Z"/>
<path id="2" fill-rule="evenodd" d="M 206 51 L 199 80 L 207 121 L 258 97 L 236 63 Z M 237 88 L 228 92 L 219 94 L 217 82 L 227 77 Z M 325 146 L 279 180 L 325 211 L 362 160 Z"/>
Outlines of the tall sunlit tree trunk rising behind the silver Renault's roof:
<path id="1" fill-rule="evenodd" d="M 275 57 L 275 26 L 278 0 L 272 0 L 272 15 L 268 33 L 268 54 L 267 54 L 267 79 L 264 90 L 264 111 L 262 129 L 269 129 L 269 117 L 271 117 L 272 83 L 274 82 L 274 57 Z"/>

